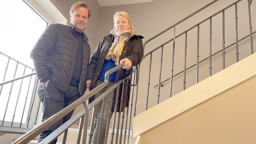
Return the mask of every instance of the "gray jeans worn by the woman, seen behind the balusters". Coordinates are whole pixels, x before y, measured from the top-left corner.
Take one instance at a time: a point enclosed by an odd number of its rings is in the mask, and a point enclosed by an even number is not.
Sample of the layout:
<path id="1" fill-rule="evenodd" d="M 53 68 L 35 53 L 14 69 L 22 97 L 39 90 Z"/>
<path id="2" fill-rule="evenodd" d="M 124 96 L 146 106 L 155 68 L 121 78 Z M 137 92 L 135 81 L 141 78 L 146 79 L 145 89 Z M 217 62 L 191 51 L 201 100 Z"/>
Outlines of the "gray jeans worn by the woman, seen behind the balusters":
<path id="1" fill-rule="evenodd" d="M 104 82 L 104 80 L 97 80 L 96 83 L 95 83 L 95 86 L 99 86 L 103 82 Z M 107 86 L 105 86 L 103 89 L 101 89 L 100 91 L 98 91 L 95 94 L 94 98 L 99 97 L 103 92 L 105 92 L 107 89 L 109 89 L 114 84 L 115 84 L 114 82 L 109 82 Z M 95 129 L 94 129 L 93 136 L 92 136 L 92 144 L 97 144 L 98 134 L 99 134 L 99 137 L 100 137 L 98 144 L 103 144 L 104 143 L 105 132 L 106 132 L 106 128 L 107 128 L 107 118 L 108 118 L 110 98 L 113 98 L 113 93 L 112 93 L 112 95 L 110 93 L 109 95 L 107 95 L 104 98 L 103 108 L 102 108 L 102 101 L 99 102 L 94 107 L 94 111 L 95 111 L 94 127 L 95 127 Z M 112 105 L 110 105 L 110 107 L 112 107 Z M 103 116 L 101 116 L 102 109 L 104 111 Z M 110 111 L 111 111 L 111 108 L 110 108 Z M 112 114 L 113 113 L 111 113 L 110 118 L 111 118 Z M 102 118 L 102 125 L 100 126 L 101 118 Z M 109 123 L 110 123 L 110 121 L 109 121 Z M 108 126 L 109 126 L 109 123 L 108 123 Z M 99 126 L 100 126 L 100 130 L 99 130 Z"/>

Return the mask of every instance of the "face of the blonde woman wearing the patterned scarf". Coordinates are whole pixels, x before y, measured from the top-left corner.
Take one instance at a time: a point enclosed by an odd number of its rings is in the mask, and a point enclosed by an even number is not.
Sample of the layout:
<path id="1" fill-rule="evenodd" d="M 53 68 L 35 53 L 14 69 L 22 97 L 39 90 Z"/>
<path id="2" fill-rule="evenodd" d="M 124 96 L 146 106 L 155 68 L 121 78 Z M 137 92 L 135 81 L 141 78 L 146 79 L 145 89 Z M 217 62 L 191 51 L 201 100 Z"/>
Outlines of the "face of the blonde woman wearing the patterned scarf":
<path id="1" fill-rule="evenodd" d="M 115 21 L 115 28 L 117 32 L 124 32 L 130 28 L 131 25 L 128 23 L 127 18 L 122 15 L 117 15 Z"/>

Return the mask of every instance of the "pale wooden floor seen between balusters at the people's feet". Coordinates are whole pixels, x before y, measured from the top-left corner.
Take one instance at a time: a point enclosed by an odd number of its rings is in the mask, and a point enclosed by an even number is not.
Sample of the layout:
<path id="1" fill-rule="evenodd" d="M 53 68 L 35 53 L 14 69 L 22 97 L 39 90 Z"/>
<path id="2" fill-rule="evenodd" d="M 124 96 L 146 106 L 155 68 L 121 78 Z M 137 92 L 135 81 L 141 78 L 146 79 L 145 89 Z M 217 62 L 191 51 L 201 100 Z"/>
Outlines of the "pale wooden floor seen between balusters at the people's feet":
<path id="1" fill-rule="evenodd" d="M 67 140 L 66 140 L 66 144 L 76 144 L 76 141 L 77 141 L 77 134 L 78 134 L 78 130 L 76 129 L 68 129 L 68 133 L 67 133 Z M 83 132 L 82 132 L 82 135 L 83 135 Z M 120 134 L 118 134 L 118 143 L 119 143 L 119 139 L 120 139 Z M 127 136 L 128 134 L 126 134 L 126 140 L 125 140 L 125 143 L 127 144 Z M 123 137 L 124 137 L 124 134 L 122 134 L 122 142 L 121 144 L 123 144 Z M 63 138 L 63 134 L 60 135 L 58 137 L 58 143 L 61 143 L 62 142 L 62 138 Z M 111 133 L 108 134 L 108 140 L 107 140 L 107 144 L 110 144 L 110 139 L 111 139 Z M 133 138 L 133 134 L 130 134 L 130 138 L 129 138 L 129 144 L 134 144 L 136 141 L 136 138 Z M 114 144 L 116 142 L 116 133 L 114 135 Z M 82 143 L 82 139 L 80 140 L 80 143 Z M 86 144 L 88 144 L 88 132 L 86 134 Z"/>

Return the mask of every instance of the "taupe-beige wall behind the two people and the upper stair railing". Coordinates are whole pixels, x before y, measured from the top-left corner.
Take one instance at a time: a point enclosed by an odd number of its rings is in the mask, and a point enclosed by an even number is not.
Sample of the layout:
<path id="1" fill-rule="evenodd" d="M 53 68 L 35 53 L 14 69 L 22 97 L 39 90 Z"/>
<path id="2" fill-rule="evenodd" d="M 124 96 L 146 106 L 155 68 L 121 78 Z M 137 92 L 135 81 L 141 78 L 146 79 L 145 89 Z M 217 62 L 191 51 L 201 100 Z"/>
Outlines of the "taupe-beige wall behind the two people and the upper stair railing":
<path id="1" fill-rule="evenodd" d="M 69 9 L 71 5 L 76 1 L 55 1 L 51 2 L 57 7 L 60 12 L 68 19 Z M 188 16 L 192 12 L 200 9 L 204 5 L 211 2 L 211 0 L 180 0 L 180 1 L 166 1 L 166 0 L 154 0 L 148 3 L 139 4 L 128 4 L 128 5 L 118 5 L 110 7 L 99 7 L 97 1 L 90 0 L 86 1 L 89 3 L 92 9 L 91 18 L 88 21 L 85 33 L 89 37 L 89 43 L 91 45 L 91 52 L 94 51 L 98 42 L 109 31 L 113 28 L 113 14 L 117 10 L 126 11 L 130 15 L 131 21 L 135 27 L 135 32 L 139 35 L 144 36 L 143 42 L 148 40 L 150 37 L 159 33 L 160 31 L 166 29 L 172 24 L 178 22 L 182 18 Z M 216 11 L 219 11 L 229 4 L 235 2 L 235 0 L 220 0 L 210 6 L 209 8 L 199 12 L 195 16 L 186 20 L 185 22 L 176 26 L 176 35 L 185 31 L 197 24 L 197 22 L 209 17 Z M 238 38 L 249 34 L 249 24 L 248 24 L 248 3 L 246 0 L 238 3 Z M 253 2 L 251 5 L 252 16 L 253 16 L 253 26 L 256 24 L 256 3 Z M 229 10 L 225 11 L 225 45 L 230 45 L 235 42 L 235 12 L 234 6 Z M 213 18 L 213 41 L 212 41 L 212 53 L 215 53 L 222 49 L 222 14 L 219 14 Z M 196 63 L 196 32 L 197 29 L 194 28 L 188 32 L 187 41 L 187 67 Z M 149 42 L 145 47 L 145 54 L 154 49 L 155 47 L 161 45 L 161 43 L 173 37 L 173 29 L 167 32 L 163 36 Z M 255 43 L 254 36 L 254 43 Z M 174 74 L 182 71 L 184 69 L 184 40 L 185 36 L 181 36 L 176 39 L 175 46 L 175 59 L 174 59 Z M 199 45 L 199 60 L 202 60 L 209 56 L 209 21 L 200 25 L 200 45 Z M 243 59 L 250 54 L 250 47 L 248 39 L 239 43 L 239 58 Z M 230 50 L 232 49 L 232 50 Z M 158 50 L 153 54 L 152 70 L 151 70 L 151 85 L 149 91 L 149 104 L 148 108 L 153 107 L 156 104 L 157 87 L 153 89 L 153 86 L 158 83 L 159 80 L 159 59 L 161 51 Z M 164 47 L 163 56 L 163 70 L 162 70 L 162 80 L 170 77 L 171 70 L 171 55 L 172 55 L 172 42 Z M 146 104 L 146 88 L 148 79 L 148 61 L 149 57 L 145 58 L 141 65 L 140 71 L 140 83 L 138 92 L 138 101 L 136 115 L 145 111 Z M 235 63 L 235 46 L 229 48 L 226 51 L 226 67 Z M 199 65 L 199 82 L 209 75 L 209 60 L 201 63 Z M 222 70 L 222 54 L 213 57 L 212 63 L 212 73 L 215 74 Z M 195 84 L 196 81 L 196 69 L 190 69 L 186 73 L 186 88 Z M 163 102 L 168 98 L 168 93 L 170 90 L 170 81 L 164 83 L 164 87 L 160 90 L 160 102 Z M 173 90 L 172 95 L 181 92 L 183 89 L 183 74 L 178 75 L 173 79 Z M 134 92 L 135 94 L 135 92 Z M 135 104 L 135 98 L 134 102 Z M 80 107 L 82 108 L 82 107 Z M 133 108 L 134 109 L 134 108 Z M 133 115 L 133 114 L 132 114 Z"/>

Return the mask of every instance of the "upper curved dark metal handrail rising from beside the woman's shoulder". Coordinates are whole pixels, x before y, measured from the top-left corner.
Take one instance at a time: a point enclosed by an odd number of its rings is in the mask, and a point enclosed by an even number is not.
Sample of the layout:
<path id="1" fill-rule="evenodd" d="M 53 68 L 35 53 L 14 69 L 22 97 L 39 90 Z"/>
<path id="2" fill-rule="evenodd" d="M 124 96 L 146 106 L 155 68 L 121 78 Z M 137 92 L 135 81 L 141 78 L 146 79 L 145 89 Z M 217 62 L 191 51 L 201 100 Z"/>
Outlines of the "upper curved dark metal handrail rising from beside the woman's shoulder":
<path id="1" fill-rule="evenodd" d="M 151 41 L 151 40 L 155 39 L 156 37 L 160 36 L 161 34 L 167 32 L 168 30 L 170 30 L 170 29 L 173 28 L 174 26 L 176 26 L 176 25 L 180 24 L 181 22 L 187 20 L 187 19 L 190 18 L 191 16 L 197 14 L 198 12 L 200 12 L 200 11 L 202 11 L 203 9 L 209 7 L 210 5 L 214 4 L 214 3 L 217 2 L 217 1 L 218 1 L 218 0 L 214 0 L 214 1 L 210 2 L 209 4 L 205 5 L 205 6 L 202 7 L 201 9 L 199 9 L 199 10 L 193 12 L 192 14 L 190 14 L 190 15 L 186 16 L 185 18 L 183 18 L 182 20 L 180 20 L 180 21 L 174 23 L 172 26 L 168 27 L 167 29 L 163 30 L 162 32 L 160 32 L 160 33 L 158 33 L 157 35 L 155 35 L 155 36 L 151 37 L 150 39 L 148 39 L 148 40 L 143 44 L 143 53 L 144 53 L 145 45 L 146 45 L 149 41 Z"/>

